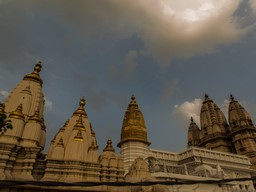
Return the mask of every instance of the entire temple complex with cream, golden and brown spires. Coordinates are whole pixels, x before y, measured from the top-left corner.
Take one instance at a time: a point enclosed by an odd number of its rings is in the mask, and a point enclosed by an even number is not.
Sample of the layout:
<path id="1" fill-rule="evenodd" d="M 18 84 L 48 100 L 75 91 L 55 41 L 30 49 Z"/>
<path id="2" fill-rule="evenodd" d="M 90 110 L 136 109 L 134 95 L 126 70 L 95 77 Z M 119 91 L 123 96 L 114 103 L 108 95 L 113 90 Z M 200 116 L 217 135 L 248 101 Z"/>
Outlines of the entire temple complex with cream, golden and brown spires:
<path id="1" fill-rule="evenodd" d="M 150 148 L 150 133 L 134 95 L 118 128 L 120 142 L 113 144 L 106 138 L 106 147 L 99 151 L 86 100 L 81 97 L 45 153 L 41 69 L 38 62 L 0 105 L 0 113 L 13 127 L 0 135 L 0 181 L 30 184 L 0 183 L 1 191 L 255 191 L 256 128 L 233 96 L 227 121 L 217 104 L 205 95 L 200 125 L 191 118 L 187 149 L 180 153 Z M 120 154 L 113 145 L 120 148 Z M 177 184 L 131 185 L 166 181 Z M 76 186 L 76 182 L 93 183 Z M 54 183 L 70 185 L 56 187 Z"/>

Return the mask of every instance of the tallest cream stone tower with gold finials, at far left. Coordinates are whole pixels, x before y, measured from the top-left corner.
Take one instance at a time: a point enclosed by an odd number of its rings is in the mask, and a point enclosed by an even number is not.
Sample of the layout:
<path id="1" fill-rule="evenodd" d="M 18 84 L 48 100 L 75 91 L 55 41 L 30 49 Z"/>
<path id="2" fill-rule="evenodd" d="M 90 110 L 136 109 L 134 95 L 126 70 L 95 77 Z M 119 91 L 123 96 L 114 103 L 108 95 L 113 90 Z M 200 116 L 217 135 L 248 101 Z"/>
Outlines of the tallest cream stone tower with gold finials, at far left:
<path id="1" fill-rule="evenodd" d="M 13 129 L 0 135 L 0 178 L 33 179 L 36 162 L 43 157 L 45 125 L 43 120 L 43 81 L 41 62 L 13 89 L 5 102 L 5 112 Z M 37 176 L 35 176 L 37 178 Z"/>

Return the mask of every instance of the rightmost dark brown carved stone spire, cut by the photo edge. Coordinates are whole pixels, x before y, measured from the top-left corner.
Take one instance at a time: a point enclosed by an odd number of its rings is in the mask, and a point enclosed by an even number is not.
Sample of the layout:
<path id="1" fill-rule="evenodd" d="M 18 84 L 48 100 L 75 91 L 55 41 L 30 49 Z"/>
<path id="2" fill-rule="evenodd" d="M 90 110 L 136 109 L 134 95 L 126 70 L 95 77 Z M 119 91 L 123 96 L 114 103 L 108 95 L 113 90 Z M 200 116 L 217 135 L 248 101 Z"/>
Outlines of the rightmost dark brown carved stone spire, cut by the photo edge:
<path id="1" fill-rule="evenodd" d="M 229 136 L 232 137 L 236 153 L 249 157 L 255 169 L 256 128 L 249 113 L 232 95 L 230 96 L 228 120 L 231 127 Z"/>

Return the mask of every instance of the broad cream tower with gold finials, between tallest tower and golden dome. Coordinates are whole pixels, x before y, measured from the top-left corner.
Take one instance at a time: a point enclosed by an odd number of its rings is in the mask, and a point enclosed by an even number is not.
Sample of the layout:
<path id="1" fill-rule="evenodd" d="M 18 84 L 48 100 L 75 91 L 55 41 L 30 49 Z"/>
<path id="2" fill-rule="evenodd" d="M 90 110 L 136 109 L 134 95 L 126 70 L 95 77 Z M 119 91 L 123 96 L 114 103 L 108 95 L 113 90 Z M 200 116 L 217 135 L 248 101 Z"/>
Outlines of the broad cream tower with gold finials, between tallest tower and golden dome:
<path id="1" fill-rule="evenodd" d="M 44 180 L 99 180 L 98 145 L 84 106 L 83 97 L 72 117 L 52 140 Z"/>

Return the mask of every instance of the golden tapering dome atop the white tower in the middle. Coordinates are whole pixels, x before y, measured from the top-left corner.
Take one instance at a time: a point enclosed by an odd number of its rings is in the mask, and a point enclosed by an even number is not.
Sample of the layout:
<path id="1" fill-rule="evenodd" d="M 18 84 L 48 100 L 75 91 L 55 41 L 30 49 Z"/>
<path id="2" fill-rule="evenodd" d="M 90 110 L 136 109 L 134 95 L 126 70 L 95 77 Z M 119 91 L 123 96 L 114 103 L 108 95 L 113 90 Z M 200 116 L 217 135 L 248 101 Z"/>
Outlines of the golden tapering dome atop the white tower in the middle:
<path id="1" fill-rule="evenodd" d="M 140 141 L 150 145 L 147 139 L 147 128 L 144 117 L 134 95 L 131 96 L 130 104 L 124 114 L 121 141 L 117 146 L 120 147 L 126 141 Z"/>

